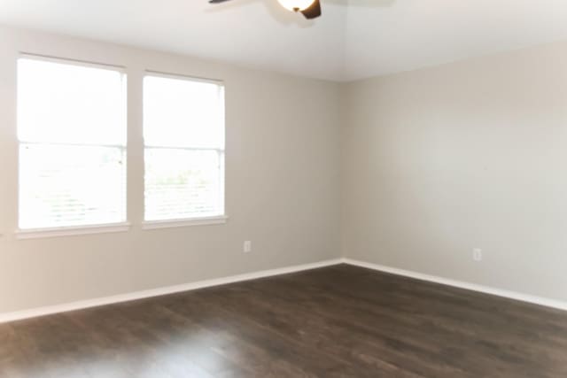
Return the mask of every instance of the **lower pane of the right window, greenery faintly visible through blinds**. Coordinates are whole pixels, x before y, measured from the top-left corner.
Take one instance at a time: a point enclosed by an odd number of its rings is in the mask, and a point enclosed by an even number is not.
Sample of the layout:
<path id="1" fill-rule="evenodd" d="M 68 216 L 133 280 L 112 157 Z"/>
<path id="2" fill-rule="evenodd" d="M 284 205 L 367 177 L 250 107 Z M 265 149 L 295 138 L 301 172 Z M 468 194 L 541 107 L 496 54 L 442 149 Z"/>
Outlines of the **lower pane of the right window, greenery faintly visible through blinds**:
<path id="1" fill-rule="evenodd" d="M 221 215 L 221 153 L 145 150 L 145 220 Z"/>

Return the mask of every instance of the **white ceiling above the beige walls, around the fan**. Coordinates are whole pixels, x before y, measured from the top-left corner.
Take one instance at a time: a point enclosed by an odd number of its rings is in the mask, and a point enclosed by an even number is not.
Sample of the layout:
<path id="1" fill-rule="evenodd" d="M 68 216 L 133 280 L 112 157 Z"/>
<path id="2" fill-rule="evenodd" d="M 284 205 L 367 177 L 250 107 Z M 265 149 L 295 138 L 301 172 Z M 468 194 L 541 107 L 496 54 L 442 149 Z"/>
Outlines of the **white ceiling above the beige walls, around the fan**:
<path id="1" fill-rule="evenodd" d="M 565 0 L 0 0 L 0 24 L 348 81 L 567 39 Z"/>

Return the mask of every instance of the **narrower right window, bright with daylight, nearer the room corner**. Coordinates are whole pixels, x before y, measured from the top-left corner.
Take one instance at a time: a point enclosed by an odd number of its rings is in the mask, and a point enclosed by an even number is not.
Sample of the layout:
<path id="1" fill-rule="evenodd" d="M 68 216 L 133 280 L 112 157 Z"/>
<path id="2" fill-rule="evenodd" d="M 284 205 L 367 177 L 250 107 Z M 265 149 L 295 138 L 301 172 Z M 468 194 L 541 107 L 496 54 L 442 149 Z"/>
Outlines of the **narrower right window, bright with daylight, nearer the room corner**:
<path id="1" fill-rule="evenodd" d="M 144 78 L 146 221 L 224 215 L 224 87 Z"/>

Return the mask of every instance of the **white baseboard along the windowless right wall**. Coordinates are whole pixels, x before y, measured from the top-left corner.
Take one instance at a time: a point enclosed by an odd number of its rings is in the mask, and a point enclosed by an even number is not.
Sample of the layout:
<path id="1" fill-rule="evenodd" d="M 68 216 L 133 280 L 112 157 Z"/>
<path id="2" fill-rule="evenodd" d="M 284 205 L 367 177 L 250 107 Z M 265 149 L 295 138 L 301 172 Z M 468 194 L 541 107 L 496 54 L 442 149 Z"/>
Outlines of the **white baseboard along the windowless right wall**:
<path id="1" fill-rule="evenodd" d="M 352 258 L 343 258 L 342 262 L 352 266 L 366 267 L 372 270 L 377 270 L 384 273 L 402 275 L 404 277 L 414 278 L 416 280 L 428 281 L 440 283 L 447 286 L 453 286 L 455 288 L 467 289 L 472 291 L 478 291 L 485 294 L 490 294 L 497 297 L 505 297 L 509 299 L 515 299 L 517 301 L 527 302 L 534 305 L 543 305 L 546 307 L 555 308 L 558 310 L 567 311 L 567 303 L 556 299 L 550 299 L 546 297 L 536 297 L 529 294 L 522 294 L 516 291 L 509 291 L 503 289 L 495 289 L 488 286 L 478 285 L 476 283 L 462 282 L 457 280 L 451 280 L 449 278 L 443 278 L 431 274 L 422 274 L 417 272 L 412 272 L 409 270 L 399 269 L 391 266 L 382 266 L 378 264 L 372 264 L 364 261 L 355 260 Z"/>

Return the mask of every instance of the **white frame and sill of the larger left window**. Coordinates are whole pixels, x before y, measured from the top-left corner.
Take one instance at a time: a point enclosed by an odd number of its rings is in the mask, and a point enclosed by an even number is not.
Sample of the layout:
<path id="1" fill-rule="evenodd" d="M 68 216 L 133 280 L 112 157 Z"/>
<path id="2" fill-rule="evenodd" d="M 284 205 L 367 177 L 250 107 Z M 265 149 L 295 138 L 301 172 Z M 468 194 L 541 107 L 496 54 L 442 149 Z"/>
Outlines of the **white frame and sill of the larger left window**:
<path id="1" fill-rule="evenodd" d="M 128 232 L 132 226 L 130 221 L 128 220 L 128 73 L 125 66 L 115 66 L 105 63 L 94 63 L 79 59 L 73 58 L 58 58 L 52 57 L 48 55 L 41 55 L 41 54 L 32 54 L 27 52 L 19 53 L 17 57 L 17 61 L 19 59 L 31 59 L 31 60 L 39 60 L 43 62 L 51 62 L 51 63 L 58 63 L 64 64 L 67 66 L 81 66 L 81 67 L 91 67 L 91 68 L 98 68 L 104 70 L 111 70 L 118 72 L 122 75 L 122 91 L 123 91 L 123 106 L 124 106 L 124 122 L 126 127 L 126 143 L 124 145 L 109 145 L 109 144 L 84 144 L 84 143 L 35 143 L 35 142 L 25 142 L 20 141 L 19 137 L 16 136 L 16 141 L 18 143 L 18 150 L 21 145 L 25 144 L 51 144 L 51 145 L 65 145 L 65 146 L 100 146 L 100 147 L 108 147 L 108 148 L 116 148 L 120 149 L 122 152 L 122 156 L 125 160 L 125 181 L 124 181 L 124 196 L 125 196 L 125 214 L 126 220 L 122 222 L 114 222 L 114 223 L 98 223 L 92 225 L 81 225 L 81 226 L 62 226 L 62 227 L 54 227 L 54 228 L 19 228 L 19 205 L 20 205 L 20 198 L 19 198 L 19 181 L 20 181 L 20 171 L 19 171 L 19 153 L 18 153 L 18 194 L 16 198 L 16 203 L 18 207 L 18 228 L 15 231 L 16 239 L 36 239 L 36 238 L 49 238 L 49 237 L 58 237 L 58 236 L 72 236 L 72 235 L 90 235 L 90 234 L 105 234 L 105 233 L 117 233 L 117 232 Z M 16 89 L 18 90 L 18 85 L 16 85 Z M 18 121 L 16 121 L 18 125 Z"/>

